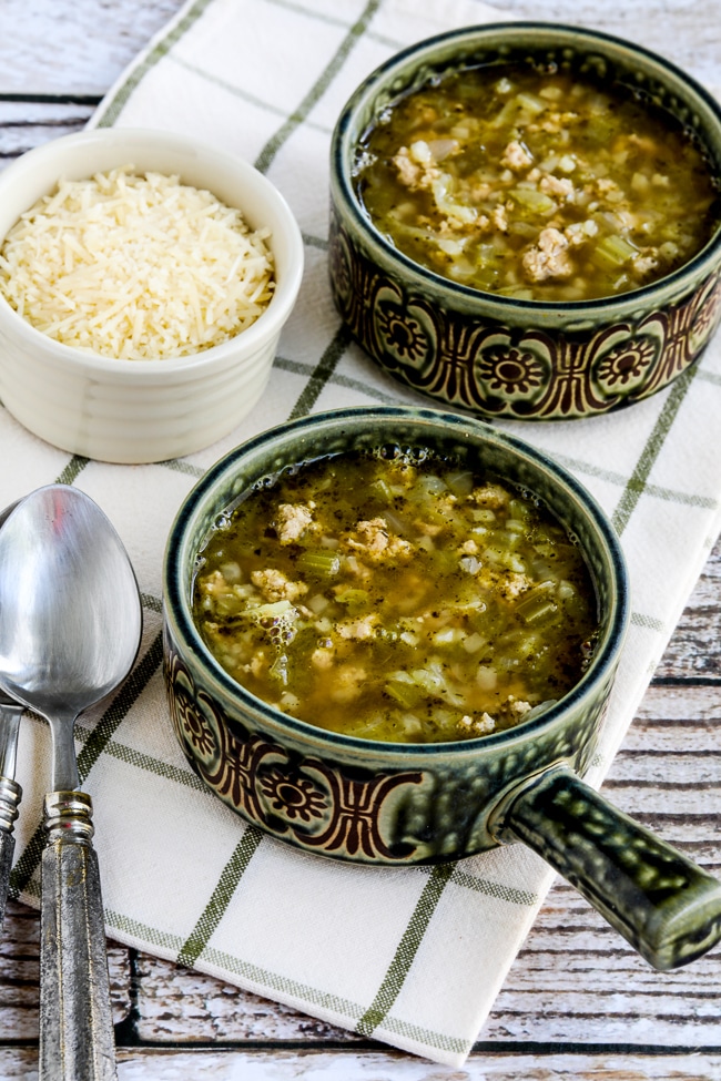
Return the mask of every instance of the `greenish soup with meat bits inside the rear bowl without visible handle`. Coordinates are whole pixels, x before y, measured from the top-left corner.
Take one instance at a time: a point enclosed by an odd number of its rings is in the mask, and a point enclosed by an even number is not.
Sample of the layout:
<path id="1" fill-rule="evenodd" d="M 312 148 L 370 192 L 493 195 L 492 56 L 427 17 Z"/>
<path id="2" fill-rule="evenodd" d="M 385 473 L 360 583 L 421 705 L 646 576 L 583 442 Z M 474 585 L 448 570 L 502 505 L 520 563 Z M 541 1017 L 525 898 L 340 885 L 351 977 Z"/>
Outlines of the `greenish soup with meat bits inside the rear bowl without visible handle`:
<path id="1" fill-rule="evenodd" d="M 364 136 L 354 176 L 399 251 L 520 299 L 639 288 L 719 224 L 710 167 L 669 113 L 530 64 L 451 72 L 400 98 Z"/>

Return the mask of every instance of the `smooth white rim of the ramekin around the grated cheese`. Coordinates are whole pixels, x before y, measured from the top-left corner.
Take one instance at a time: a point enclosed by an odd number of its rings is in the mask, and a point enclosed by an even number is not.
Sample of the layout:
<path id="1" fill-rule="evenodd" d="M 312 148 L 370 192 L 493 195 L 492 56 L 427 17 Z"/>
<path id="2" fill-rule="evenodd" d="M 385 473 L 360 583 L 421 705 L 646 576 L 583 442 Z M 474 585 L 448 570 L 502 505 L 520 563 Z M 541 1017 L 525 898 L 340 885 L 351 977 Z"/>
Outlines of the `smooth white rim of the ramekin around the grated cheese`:
<path id="1" fill-rule="evenodd" d="M 80 152 L 85 146 L 92 147 L 93 144 L 112 145 L 115 142 L 122 143 L 123 141 L 136 142 L 151 150 L 161 146 L 171 150 L 176 149 L 179 152 L 192 152 L 201 161 L 209 161 L 211 164 L 215 161 L 226 169 L 235 170 L 242 181 L 252 179 L 252 182 L 262 193 L 263 203 L 268 207 L 272 206 L 281 220 L 284 241 L 288 246 L 287 268 L 280 282 L 276 278 L 276 288 L 267 307 L 245 330 L 240 332 L 226 341 L 211 346 L 200 353 L 182 357 L 167 357 L 166 359 L 129 360 L 118 357 L 103 357 L 101 354 L 65 345 L 43 334 L 42 330 L 24 319 L 2 295 L 0 295 L 0 324 L 4 320 L 9 328 L 8 333 L 29 340 L 30 347 L 43 347 L 45 353 L 60 364 L 70 368 L 82 368 L 90 374 L 97 373 L 100 377 L 119 377 L 121 381 L 123 379 L 152 381 L 179 373 L 192 373 L 193 369 L 205 367 L 214 361 L 220 364 L 223 360 L 235 363 L 241 345 L 243 353 L 251 355 L 274 334 L 277 334 L 288 318 L 301 287 L 305 252 L 301 227 L 285 196 L 267 176 L 244 157 L 230 153 L 205 140 L 189 137 L 182 133 L 163 129 L 88 128 L 69 135 L 60 135 L 58 139 L 34 146 L 11 162 L 0 173 L 0 200 L 2 200 L 4 188 L 8 185 L 14 187 L 17 184 L 21 184 L 23 177 L 32 173 L 38 165 L 45 167 L 48 162 L 52 162 L 55 156 L 62 155 L 65 150 L 72 153 L 74 147 L 78 147 L 78 152 Z M 128 164 L 128 162 L 121 164 Z M 207 185 L 207 188 L 212 191 L 212 185 Z M 27 210 L 30 208 L 30 205 Z M 4 235 L 0 236 L 0 247 L 4 242 Z"/>

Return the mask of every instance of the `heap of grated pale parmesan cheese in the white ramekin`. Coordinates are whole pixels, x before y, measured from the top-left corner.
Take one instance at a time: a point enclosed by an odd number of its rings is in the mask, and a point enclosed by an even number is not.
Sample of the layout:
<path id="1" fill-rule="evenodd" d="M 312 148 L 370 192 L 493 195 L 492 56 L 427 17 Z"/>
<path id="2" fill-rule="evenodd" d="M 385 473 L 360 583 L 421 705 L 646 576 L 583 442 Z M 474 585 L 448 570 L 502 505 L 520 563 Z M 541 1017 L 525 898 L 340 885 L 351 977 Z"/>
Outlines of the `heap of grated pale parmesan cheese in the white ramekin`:
<path id="1" fill-rule="evenodd" d="M 61 181 L 0 249 L 0 293 L 32 326 L 103 357 L 155 360 L 251 326 L 274 288 L 267 230 L 132 165 Z"/>

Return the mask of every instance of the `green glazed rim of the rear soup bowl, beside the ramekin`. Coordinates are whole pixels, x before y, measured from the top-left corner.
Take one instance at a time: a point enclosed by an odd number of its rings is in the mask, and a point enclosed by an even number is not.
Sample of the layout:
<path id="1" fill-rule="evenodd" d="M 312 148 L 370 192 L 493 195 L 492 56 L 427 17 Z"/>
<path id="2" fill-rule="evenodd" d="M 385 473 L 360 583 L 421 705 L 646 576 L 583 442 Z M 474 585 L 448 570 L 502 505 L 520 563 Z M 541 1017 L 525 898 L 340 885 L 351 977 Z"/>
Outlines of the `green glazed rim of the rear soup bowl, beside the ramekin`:
<path id="1" fill-rule="evenodd" d="M 704 276 L 710 275 L 718 265 L 721 256 L 721 221 L 715 233 L 695 255 L 670 274 L 639 288 L 615 296 L 595 297 L 586 300 L 528 300 L 474 289 L 436 274 L 390 244 L 362 208 L 353 191 L 349 176 L 353 164 L 352 155 L 357 145 L 357 140 L 351 141 L 348 137 L 354 114 L 360 105 L 368 98 L 374 96 L 386 82 L 390 82 L 394 75 L 399 74 L 406 64 L 410 67 L 412 62 L 416 60 L 419 64 L 424 60 L 430 61 L 435 50 L 448 42 L 457 41 L 460 44 L 473 39 L 478 39 L 480 42 L 486 38 L 504 35 L 512 43 L 514 38 L 531 33 L 538 40 L 538 48 L 552 44 L 555 39 L 558 39 L 559 45 L 562 45 L 566 40 L 570 41 L 571 38 L 577 42 L 580 39 L 589 48 L 593 45 L 600 48 L 601 53 L 603 53 L 603 47 L 607 47 L 606 55 L 608 57 L 613 53 L 626 52 L 631 58 L 638 57 L 650 67 L 659 68 L 664 75 L 671 78 L 672 82 L 683 88 L 689 99 L 697 100 L 702 110 L 709 114 L 708 120 L 713 120 L 717 123 L 721 143 L 721 102 L 717 101 L 693 75 L 673 61 L 642 44 L 602 30 L 572 27 L 563 22 L 518 20 L 479 23 L 447 30 L 407 45 L 379 64 L 354 90 L 338 115 L 331 141 L 331 192 L 336 210 L 349 215 L 374 257 L 379 255 L 383 261 L 398 266 L 399 274 L 403 275 L 406 283 L 425 290 L 431 287 L 449 307 L 453 307 L 454 302 L 457 303 L 458 300 L 466 304 L 480 303 L 487 312 L 496 314 L 500 319 L 507 318 L 507 313 L 511 310 L 536 316 L 539 313 L 554 313 L 557 317 L 562 317 L 568 313 L 568 316 L 576 320 L 582 317 L 607 316 L 609 312 L 613 314 L 613 317 L 621 317 L 627 309 L 629 312 L 637 310 L 639 305 L 642 305 L 649 297 L 660 294 L 679 295 L 687 288 L 691 288 L 699 273 Z M 709 151 L 708 144 L 705 150 Z M 721 176 L 721 150 L 719 175 Z M 721 198 L 721 184 L 719 185 L 719 197 Z"/>

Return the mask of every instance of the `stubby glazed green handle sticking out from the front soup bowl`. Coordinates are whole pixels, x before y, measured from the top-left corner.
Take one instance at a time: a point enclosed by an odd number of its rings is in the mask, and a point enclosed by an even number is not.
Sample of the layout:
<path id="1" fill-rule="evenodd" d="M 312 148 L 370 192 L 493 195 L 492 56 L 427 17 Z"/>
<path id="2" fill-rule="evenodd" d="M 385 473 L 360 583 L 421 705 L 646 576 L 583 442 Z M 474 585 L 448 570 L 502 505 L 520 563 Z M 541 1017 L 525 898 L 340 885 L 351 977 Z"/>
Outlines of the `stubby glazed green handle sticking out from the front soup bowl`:
<path id="1" fill-rule="evenodd" d="M 570 769 L 507 794 L 489 828 L 542 856 L 653 968 L 688 965 L 721 939 L 721 881 Z"/>

